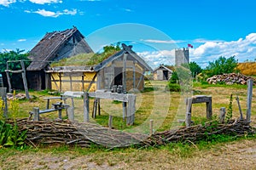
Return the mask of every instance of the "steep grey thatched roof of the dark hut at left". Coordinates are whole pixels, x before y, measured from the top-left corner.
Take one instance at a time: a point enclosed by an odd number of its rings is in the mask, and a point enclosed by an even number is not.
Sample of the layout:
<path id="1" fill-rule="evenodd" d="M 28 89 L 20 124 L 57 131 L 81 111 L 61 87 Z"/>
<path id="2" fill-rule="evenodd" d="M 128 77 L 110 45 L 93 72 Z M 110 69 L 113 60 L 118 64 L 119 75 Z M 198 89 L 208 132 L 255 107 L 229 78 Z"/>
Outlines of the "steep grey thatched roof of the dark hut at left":
<path id="1" fill-rule="evenodd" d="M 32 63 L 26 70 L 40 71 L 49 65 L 50 61 L 81 53 L 93 53 L 93 51 L 76 27 L 65 31 L 49 32 L 32 48 L 28 57 L 32 59 Z"/>

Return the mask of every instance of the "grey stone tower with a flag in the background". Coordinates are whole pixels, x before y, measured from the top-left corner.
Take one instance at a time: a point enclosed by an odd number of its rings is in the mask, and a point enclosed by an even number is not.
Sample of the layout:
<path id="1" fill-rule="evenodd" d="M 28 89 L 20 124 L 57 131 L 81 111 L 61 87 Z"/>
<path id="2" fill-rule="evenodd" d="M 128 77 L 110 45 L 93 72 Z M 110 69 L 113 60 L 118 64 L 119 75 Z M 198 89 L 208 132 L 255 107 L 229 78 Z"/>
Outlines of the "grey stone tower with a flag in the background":
<path id="1" fill-rule="evenodd" d="M 189 48 L 175 49 L 175 66 L 189 64 Z"/>

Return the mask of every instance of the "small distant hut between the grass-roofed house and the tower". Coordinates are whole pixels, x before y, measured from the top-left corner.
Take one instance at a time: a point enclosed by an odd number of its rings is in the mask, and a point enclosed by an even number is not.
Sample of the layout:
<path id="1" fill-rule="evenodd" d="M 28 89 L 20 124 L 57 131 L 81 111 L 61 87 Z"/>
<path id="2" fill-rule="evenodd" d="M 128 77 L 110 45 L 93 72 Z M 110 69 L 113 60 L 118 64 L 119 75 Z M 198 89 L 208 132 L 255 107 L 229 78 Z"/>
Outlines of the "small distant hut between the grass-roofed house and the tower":
<path id="1" fill-rule="evenodd" d="M 169 80 L 172 77 L 172 70 L 165 65 L 160 65 L 154 69 L 154 80 Z"/>

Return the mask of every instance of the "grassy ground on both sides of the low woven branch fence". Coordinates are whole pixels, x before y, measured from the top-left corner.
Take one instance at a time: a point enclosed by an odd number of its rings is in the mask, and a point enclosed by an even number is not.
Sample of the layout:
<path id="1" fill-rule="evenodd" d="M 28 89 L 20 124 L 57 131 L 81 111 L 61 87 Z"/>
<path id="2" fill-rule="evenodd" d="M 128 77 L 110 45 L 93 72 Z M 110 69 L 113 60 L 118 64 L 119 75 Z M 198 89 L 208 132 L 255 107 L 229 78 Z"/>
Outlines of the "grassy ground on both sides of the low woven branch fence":
<path id="1" fill-rule="evenodd" d="M 115 115 L 113 127 L 135 132 L 148 133 L 148 122 L 154 120 L 155 131 L 164 131 L 179 126 L 177 119 L 183 119 L 184 95 L 165 91 L 166 82 L 147 82 L 145 92 L 137 94 L 135 125 L 126 127 L 122 120 L 122 104 L 113 101 L 101 101 L 102 116 L 96 120 L 102 126 L 108 126 L 108 113 Z M 233 94 L 233 118 L 240 116 L 236 95 L 241 102 L 245 116 L 247 107 L 246 86 L 213 87 L 195 83 L 194 94 L 212 96 L 213 116 L 218 116 L 221 107 L 228 108 L 230 94 Z M 32 107 L 44 109 L 48 97 L 46 92 L 31 92 L 32 101 L 20 100 L 19 111 L 15 117 L 27 117 Z M 188 94 L 192 95 L 192 94 Z M 90 111 L 92 102 L 90 101 Z M 52 101 L 55 102 L 55 101 Z M 82 99 L 75 99 L 75 120 L 83 121 Z M 255 88 L 253 89 L 252 125 L 256 122 Z M 167 109 L 166 109 L 167 108 Z M 55 119 L 57 113 L 44 115 Z M 205 104 L 193 105 L 192 120 L 206 122 Z M 198 144 L 166 144 L 155 148 L 135 148 L 107 150 L 91 145 L 90 148 L 67 147 L 61 145 L 42 145 L 39 148 L 26 147 L 23 150 L 0 150 L 1 169 L 253 169 L 256 167 L 256 136 L 236 138 L 220 136 L 216 141 L 201 141 Z"/>

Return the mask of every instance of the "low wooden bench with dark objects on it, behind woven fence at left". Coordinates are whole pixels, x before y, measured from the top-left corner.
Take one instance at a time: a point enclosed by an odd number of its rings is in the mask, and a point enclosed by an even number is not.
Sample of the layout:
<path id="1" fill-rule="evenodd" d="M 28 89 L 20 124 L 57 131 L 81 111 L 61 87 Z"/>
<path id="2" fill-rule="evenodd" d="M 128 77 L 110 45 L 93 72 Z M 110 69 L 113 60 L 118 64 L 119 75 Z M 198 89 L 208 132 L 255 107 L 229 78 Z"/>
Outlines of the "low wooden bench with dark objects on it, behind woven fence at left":
<path id="1" fill-rule="evenodd" d="M 34 107 L 33 108 L 33 111 L 30 111 L 29 114 L 29 119 L 31 119 L 32 115 L 34 116 L 33 117 L 33 121 L 39 121 L 39 115 L 40 114 L 44 114 L 44 113 L 49 113 L 49 112 L 52 112 L 52 111 L 58 111 L 59 113 L 59 118 L 62 119 L 61 117 L 61 111 L 63 109 L 67 109 L 69 107 L 69 105 L 67 104 L 62 104 L 62 102 L 57 102 L 55 104 L 52 104 L 52 108 L 51 109 L 46 109 L 46 110 L 39 110 L 38 107 Z"/>

